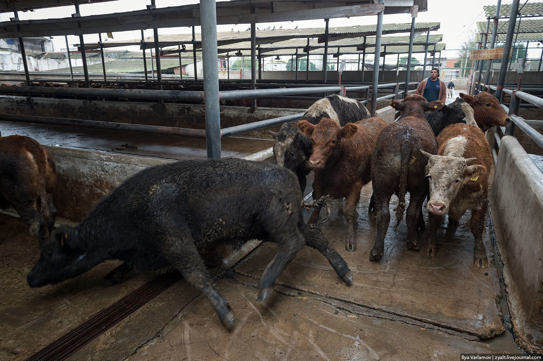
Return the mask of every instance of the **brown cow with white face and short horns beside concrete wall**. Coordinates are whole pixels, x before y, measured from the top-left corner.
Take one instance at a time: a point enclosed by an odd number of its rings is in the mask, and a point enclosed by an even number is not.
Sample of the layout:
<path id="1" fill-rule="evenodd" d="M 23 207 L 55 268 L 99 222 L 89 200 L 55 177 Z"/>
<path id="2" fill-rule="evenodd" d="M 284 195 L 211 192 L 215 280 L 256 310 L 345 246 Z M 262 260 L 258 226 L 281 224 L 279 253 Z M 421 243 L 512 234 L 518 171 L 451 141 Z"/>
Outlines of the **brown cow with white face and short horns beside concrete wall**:
<path id="1" fill-rule="evenodd" d="M 428 245 L 430 256 L 437 253 L 437 227 L 449 213 L 447 234 L 453 235 L 458 220 L 466 210 L 471 210 L 470 227 L 473 243 L 473 262 L 487 268 L 487 252 L 483 244 L 484 215 L 488 206 L 488 171 L 492 154 L 483 132 L 475 125 L 453 124 L 447 126 L 438 138 L 438 155 L 428 157 L 426 177 L 430 182 L 428 200 Z"/>

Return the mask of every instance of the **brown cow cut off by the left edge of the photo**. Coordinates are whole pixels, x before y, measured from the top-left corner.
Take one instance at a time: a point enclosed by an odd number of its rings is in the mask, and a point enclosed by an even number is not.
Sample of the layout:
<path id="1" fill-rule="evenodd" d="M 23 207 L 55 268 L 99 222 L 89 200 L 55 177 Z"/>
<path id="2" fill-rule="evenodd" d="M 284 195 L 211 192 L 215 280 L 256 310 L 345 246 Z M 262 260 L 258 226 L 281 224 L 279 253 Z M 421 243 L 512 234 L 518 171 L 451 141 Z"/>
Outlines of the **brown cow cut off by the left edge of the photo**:
<path id="1" fill-rule="evenodd" d="M 18 135 L 0 137 L 0 207 L 15 208 L 40 248 L 55 222 L 55 183 L 55 161 L 40 143 Z"/>

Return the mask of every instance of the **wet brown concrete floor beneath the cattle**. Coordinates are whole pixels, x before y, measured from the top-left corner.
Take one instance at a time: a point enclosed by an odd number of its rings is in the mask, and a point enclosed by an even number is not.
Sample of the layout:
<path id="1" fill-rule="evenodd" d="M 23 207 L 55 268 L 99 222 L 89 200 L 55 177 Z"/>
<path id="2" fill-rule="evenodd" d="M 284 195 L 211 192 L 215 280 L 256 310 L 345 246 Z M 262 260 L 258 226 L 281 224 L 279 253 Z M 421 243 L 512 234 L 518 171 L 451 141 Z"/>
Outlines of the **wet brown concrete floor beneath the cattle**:
<path id="1" fill-rule="evenodd" d="M 488 226 L 487 269 L 473 266 L 466 216 L 452 239 L 440 230 L 436 257 L 408 250 L 402 223 L 397 232 L 390 227 L 382 261 L 370 262 L 376 228 L 367 212 L 370 192 L 364 187 L 358 208 L 356 252 L 344 248 L 341 211 L 333 211 L 323 225 L 353 271 L 351 287 L 322 255 L 304 247 L 279 278 L 276 292 L 258 303 L 255 287 L 275 251 L 274 244 L 263 244 L 232 270 L 212 270 L 236 316 L 232 332 L 210 302 L 181 280 L 69 359 L 458 360 L 460 353 L 503 352 L 487 344 L 504 331 Z M 102 277 L 118 262 L 108 261 L 73 280 L 31 289 L 26 275 L 39 256 L 36 240 L 15 218 L 0 216 L 0 230 L 2 360 L 30 356 L 155 277 L 132 273 L 109 286 Z"/>

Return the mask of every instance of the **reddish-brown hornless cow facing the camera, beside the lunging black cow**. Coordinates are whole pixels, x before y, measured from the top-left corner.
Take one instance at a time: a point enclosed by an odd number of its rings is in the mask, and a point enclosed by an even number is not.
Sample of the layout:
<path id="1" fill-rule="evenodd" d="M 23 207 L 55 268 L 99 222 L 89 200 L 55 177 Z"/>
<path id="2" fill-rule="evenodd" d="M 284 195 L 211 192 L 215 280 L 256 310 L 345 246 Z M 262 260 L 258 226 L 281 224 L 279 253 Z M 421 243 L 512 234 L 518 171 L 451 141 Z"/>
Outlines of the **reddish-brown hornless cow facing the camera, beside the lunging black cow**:
<path id="1" fill-rule="evenodd" d="M 323 118 L 316 125 L 308 121 L 298 122 L 300 133 L 313 141 L 309 165 L 315 170 L 314 199 L 325 194 L 332 195 L 334 199 L 345 197 L 345 249 L 348 251 L 356 250 L 356 206 L 362 186 L 371 180 L 371 152 L 377 136 L 386 125 L 378 117 L 343 127 L 330 118 Z M 317 221 L 319 212 L 320 208 L 315 208 L 309 223 Z"/>

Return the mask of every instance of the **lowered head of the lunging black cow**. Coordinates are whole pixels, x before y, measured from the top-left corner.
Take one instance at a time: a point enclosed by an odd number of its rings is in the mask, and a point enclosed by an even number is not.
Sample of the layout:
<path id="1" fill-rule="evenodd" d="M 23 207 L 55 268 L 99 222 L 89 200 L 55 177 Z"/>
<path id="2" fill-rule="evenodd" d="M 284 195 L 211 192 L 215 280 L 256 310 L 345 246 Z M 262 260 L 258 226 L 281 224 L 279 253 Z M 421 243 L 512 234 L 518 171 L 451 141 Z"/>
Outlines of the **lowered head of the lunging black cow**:
<path id="1" fill-rule="evenodd" d="M 27 281 L 30 287 L 59 283 L 88 271 L 102 261 L 87 254 L 78 239 L 77 229 L 61 226 L 43 245 L 40 258 L 30 270 Z"/>

